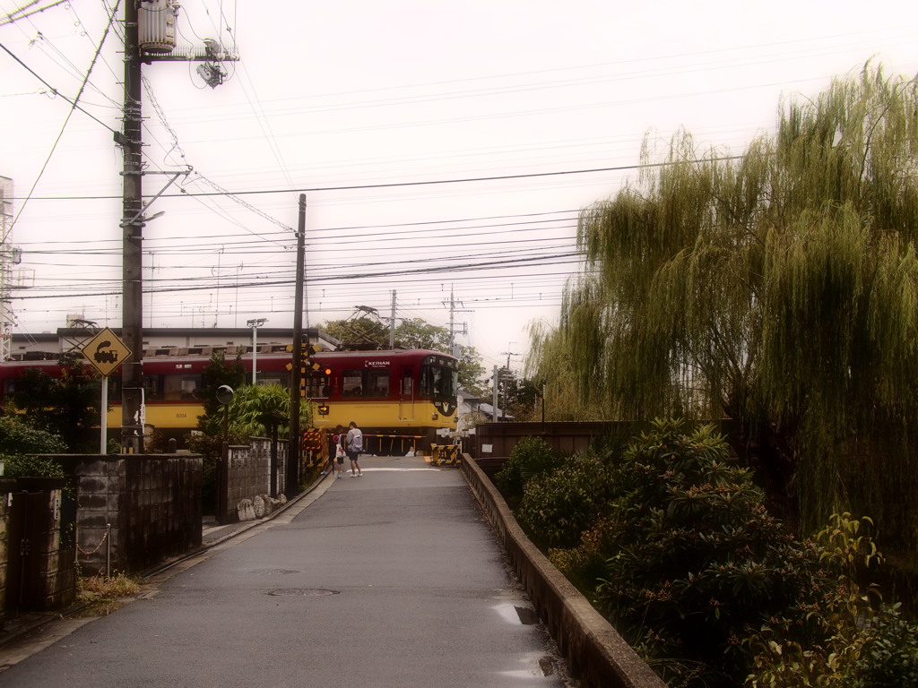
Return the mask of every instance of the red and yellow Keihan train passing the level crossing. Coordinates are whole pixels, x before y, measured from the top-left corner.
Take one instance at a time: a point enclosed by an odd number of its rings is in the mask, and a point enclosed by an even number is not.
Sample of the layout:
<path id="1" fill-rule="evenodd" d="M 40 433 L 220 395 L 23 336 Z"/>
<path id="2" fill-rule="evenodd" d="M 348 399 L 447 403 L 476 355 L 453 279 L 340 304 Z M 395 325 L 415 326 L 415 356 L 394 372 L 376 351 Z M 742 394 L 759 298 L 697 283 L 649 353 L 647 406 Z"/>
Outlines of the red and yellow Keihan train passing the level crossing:
<path id="1" fill-rule="evenodd" d="M 259 347 L 255 381 L 289 388 L 291 354 L 285 345 Z M 145 426 L 181 440 L 203 414 L 201 390 L 212 349 L 151 349 L 143 357 Z M 232 350 L 226 350 L 232 361 Z M 251 350 L 241 362 L 252 380 Z M 382 455 L 427 452 L 449 444 L 457 423 L 459 361 L 433 350 L 323 350 L 310 357 L 303 375 L 313 426 L 331 430 L 351 421 L 364 431 L 364 451 Z M 57 377 L 57 361 L 0 362 L 0 404 L 16 391 L 19 376 L 37 368 Z M 120 369 L 108 376 L 108 427 L 121 424 Z"/>

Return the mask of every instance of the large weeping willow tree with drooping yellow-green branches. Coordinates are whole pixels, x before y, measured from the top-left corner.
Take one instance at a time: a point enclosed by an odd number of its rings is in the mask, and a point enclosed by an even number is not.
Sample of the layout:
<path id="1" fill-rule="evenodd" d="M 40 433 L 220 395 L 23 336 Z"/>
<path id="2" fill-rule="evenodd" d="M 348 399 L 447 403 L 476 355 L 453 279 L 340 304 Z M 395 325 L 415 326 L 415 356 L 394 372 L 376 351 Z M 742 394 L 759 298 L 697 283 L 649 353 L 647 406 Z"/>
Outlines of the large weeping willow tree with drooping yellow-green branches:
<path id="1" fill-rule="evenodd" d="M 868 64 L 742 155 L 686 132 L 643 155 L 581 214 L 586 269 L 543 350 L 610 416 L 733 419 L 792 522 L 850 509 L 918 551 L 915 82 Z"/>

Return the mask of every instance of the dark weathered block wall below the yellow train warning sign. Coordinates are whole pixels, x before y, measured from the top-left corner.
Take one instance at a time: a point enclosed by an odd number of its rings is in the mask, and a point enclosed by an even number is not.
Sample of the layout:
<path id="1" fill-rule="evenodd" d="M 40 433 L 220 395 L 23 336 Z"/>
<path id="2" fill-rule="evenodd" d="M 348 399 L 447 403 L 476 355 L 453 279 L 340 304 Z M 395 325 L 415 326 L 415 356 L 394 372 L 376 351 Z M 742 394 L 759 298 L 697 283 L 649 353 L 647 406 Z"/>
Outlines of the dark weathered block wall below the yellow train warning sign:
<path id="1" fill-rule="evenodd" d="M 81 454 L 53 458 L 76 483 L 76 545 L 84 575 L 141 571 L 200 547 L 200 456 Z"/>

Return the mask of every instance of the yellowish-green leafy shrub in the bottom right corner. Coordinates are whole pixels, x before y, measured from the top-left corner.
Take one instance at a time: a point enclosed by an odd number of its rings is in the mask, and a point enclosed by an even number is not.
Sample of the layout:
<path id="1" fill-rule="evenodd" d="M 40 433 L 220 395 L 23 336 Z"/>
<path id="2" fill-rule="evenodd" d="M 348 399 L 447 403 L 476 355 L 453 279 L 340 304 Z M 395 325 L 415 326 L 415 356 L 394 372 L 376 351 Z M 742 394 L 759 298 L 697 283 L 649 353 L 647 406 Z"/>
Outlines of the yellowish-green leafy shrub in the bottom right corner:
<path id="1" fill-rule="evenodd" d="M 810 611 L 812 632 L 800 639 L 796 619 L 769 619 L 746 640 L 756 652 L 749 688 L 918 686 L 918 626 L 861 583 L 882 562 L 872 539 L 858 534 L 870 520 L 842 514 L 832 521 L 817 539 L 835 584 Z"/>

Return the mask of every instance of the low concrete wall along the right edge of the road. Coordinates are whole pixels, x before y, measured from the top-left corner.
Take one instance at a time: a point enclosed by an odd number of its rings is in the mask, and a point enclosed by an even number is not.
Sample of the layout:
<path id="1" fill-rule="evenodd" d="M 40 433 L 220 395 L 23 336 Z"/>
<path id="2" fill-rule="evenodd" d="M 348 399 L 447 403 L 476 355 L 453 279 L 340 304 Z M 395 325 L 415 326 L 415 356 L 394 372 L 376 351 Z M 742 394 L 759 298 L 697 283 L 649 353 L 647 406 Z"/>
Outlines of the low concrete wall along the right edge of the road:
<path id="1" fill-rule="evenodd" d="M 466 481 L 581 687 L 666 688 L 587 598 L 530 542 L 477 462 L 467 454 L 463 459 L 461 470 Z"/>

